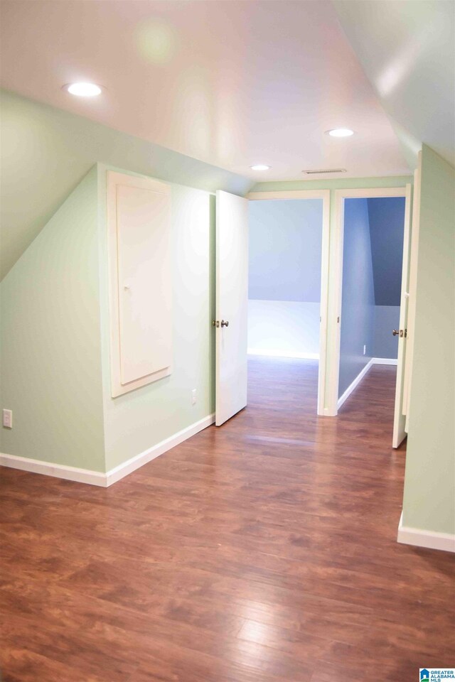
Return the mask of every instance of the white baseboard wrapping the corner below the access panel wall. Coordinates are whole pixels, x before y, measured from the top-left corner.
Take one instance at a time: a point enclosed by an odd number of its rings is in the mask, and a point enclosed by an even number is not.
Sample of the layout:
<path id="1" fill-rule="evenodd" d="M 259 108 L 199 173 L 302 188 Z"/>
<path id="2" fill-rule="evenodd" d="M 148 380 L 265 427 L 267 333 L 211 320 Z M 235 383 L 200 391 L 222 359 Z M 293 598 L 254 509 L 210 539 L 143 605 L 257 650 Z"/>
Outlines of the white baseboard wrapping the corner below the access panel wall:
<path id="1" fill-rule="evenodd" d="M 123 462 L 118 467 L 109 470 L 106 473 L 99 471 L 92 471 L 90 469 L 78 469 L 77 467 L 67 467 L 60 464 L 53 464 L 53 462 L 45 462 L 43 460 L 32 460 L 27 457 L 18 457 L 18 455 L 6 455 L 0 453 L 0 466 L 9 467 L 10 469 L 21 469 L 22 471 L 28 471 L 35 474 L 42 474 L 44 476 L 54 476 L 56 478 L 63 478 L 68 481 L 75 481 L 78 483 L 88 483 L 89 485 L 99 485 L 101 487 L 107 488 L 109 485 L 116 483 L 128 474 L 144 466 L 151 460 L 154 460 L 159 455 L 167 453 L 168 450 L 172 450 L 176 445 L 180 445 L 184 440 L 191 438 L 192 435 L 196 435 L 199 431 L 203 431 L 204 428 L 211 426 L 215 422 L 215 414 L 210 414 L 200 421 L 196 421 L 183 428 L 182 431 L 178 431 L 171 435 L 170 438 L 166 440 L 161 440 L 161 443 L 153 445 L 148 450 L 144 450 L 143 453 L 135 455 L 131 459 Z"/>

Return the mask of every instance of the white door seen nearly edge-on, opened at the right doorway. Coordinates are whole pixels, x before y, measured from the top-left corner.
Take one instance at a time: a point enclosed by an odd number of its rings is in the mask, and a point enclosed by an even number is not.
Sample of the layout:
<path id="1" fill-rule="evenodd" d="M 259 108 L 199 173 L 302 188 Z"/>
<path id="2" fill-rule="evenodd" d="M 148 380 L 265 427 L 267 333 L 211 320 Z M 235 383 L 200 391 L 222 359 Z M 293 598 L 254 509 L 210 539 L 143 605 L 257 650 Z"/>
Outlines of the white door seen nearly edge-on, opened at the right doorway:
<path id="1" fill-rule="evenodd" d="M 403 266 L 400 298 L 400 329 L 398 331 L 397 388 L 395 391 L 395 413 L 393 418 L 392 447 L 398 448 L 406 437 L 405 361 L 407 349 L 407 313 L 410 283 L 410 246 L 411 246 L 411 185 L 406 185 L 405 231 L 403 236 Z M 392 330 L 391 330 L 392 331 Z"/>

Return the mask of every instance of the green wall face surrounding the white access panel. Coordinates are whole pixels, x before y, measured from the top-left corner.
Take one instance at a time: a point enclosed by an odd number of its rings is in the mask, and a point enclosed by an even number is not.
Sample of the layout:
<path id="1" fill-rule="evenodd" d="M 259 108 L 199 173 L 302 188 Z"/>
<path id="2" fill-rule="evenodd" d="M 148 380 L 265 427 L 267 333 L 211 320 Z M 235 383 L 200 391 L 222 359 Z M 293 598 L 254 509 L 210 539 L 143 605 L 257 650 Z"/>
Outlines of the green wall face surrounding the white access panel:
<path id="1" fill-rule="evenodd" d="M 122 169 L 113 170 L 122 172 Z M 214 410 L 214 197 L 171 185 L 173 367 L 171 376 L 112 399 L 109 369 L 106 171 L 100 166 L 102 367 L 107 470 Z M 123 171 L 124 172 L 124 171 Z M 191 391 L 198 401 L 191 405 Z"/>

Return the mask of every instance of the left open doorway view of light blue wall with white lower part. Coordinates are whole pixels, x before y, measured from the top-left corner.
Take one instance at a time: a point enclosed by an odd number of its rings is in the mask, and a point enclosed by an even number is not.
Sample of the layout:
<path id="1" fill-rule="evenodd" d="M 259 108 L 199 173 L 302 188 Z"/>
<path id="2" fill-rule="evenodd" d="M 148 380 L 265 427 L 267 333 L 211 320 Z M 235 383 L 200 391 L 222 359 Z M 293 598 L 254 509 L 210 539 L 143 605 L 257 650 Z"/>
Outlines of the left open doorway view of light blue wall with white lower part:
<path id="1" fill-rule="evenodd" d="M 250 201 L 248 354 L 307 364 L 322 412 L 328 202 L 302 194 Z"/>

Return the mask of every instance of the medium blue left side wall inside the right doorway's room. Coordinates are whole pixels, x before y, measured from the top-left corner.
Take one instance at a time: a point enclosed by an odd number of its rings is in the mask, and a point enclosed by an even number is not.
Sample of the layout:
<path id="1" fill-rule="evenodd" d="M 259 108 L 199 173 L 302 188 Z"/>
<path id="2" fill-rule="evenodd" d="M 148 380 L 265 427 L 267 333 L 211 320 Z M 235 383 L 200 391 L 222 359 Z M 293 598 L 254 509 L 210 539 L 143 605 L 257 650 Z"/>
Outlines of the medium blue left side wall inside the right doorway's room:
<path id="1" fill-rule="evenodd" d="M 375 290 L 368 200 L 346 199 L 338 397 L 343 395 L 373 357 L 374 319 Z"/>

